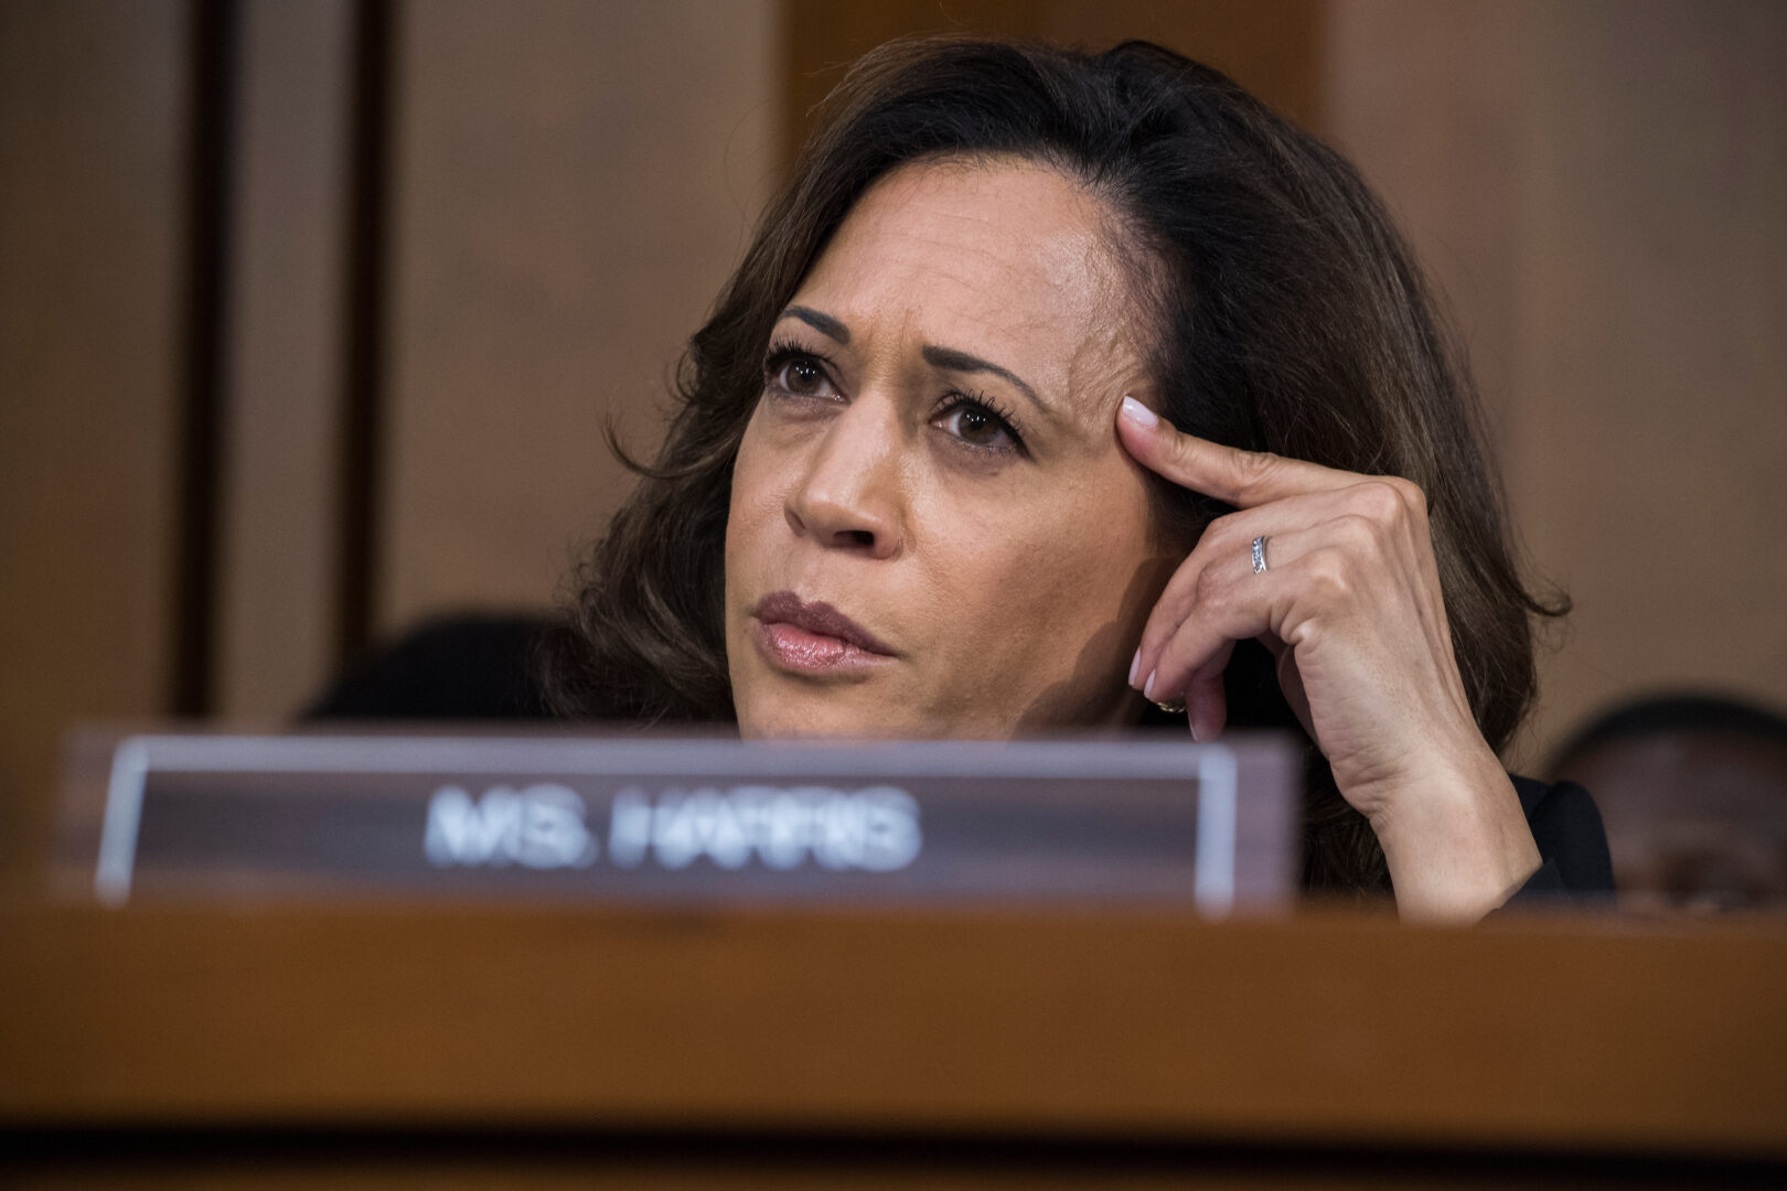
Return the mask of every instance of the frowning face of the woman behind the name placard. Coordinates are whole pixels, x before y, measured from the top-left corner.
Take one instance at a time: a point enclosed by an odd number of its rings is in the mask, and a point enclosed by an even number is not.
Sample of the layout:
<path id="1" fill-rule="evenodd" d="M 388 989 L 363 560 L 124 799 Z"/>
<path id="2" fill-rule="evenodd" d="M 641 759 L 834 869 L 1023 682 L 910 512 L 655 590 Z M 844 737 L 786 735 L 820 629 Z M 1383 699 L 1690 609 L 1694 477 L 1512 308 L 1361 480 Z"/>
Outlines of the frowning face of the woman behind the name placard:
<path id="1" fill-rule="evenodd" d="M 877 182 L 776 323 L 733 470 L 726 646 L 756 736 L 1133 720 L 1178 559 L 1115 436 L 1145 330 L 1099 200 L 1020 161 Z"/>

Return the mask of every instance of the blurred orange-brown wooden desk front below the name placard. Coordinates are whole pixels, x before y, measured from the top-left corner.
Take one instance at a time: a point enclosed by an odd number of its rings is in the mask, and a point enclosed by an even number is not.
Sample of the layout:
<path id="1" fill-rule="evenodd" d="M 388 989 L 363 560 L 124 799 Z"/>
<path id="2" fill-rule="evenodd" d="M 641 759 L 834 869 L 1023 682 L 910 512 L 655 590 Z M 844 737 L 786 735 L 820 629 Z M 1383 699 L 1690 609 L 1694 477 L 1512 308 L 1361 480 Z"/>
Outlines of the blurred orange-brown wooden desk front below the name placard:
<path id="1" fill-rule="evenodd" d="M 147 1127 L 216 1186 L 1787 1171 L 1780 920 L 14 905 L 0 948 L 41 1186 L 172 1179 Z"/>

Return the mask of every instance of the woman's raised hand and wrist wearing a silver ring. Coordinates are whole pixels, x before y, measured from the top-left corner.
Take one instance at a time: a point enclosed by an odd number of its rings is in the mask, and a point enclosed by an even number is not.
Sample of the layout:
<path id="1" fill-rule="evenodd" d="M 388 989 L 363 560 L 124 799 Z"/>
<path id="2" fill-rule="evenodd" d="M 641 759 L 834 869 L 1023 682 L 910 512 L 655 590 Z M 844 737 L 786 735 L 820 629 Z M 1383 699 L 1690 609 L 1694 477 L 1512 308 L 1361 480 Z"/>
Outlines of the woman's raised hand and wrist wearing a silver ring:
<path id="1" fill-rule="evenodd" d="M 1167 582 L 1131 682 L 1185 698 L 1208 741 L 1235 643 L 1260 639 L 1340 795 L 1376 830 L 1403 914 L 1474 918 L 1506 900 L 1539 850 L 1471 714 L 1421 489 L 1179 434 L 1135 398 L 1117 425 L 1137 462 L 1237 509 Z"/>

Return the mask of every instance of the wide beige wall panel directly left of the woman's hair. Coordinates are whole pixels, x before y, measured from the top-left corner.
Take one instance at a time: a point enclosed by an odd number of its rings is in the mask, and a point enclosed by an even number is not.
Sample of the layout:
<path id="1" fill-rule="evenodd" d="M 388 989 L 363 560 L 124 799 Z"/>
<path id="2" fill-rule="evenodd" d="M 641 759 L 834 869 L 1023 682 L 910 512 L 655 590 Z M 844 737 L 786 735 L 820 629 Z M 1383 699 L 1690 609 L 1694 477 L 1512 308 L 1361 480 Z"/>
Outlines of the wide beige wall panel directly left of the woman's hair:
<path id="1" fill-rule="evenodd" d="M 402 9 L 375 625 L 543 605 L 776 175 L 770 0 Z"/>

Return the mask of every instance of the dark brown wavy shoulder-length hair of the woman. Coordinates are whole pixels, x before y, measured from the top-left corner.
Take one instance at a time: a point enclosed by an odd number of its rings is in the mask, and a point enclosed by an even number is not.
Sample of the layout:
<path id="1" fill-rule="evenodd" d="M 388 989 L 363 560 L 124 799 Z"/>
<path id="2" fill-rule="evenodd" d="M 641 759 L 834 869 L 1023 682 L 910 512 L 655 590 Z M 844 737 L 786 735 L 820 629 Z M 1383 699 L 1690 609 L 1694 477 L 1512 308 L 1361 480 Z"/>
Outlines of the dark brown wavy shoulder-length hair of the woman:
<path id="1" fill-rule="evenodd" d="M 1156 45 L 1104 54 L 965 39 L 888 43 L 820 107 L 713 316 L 690 339 L 668 437 L 575 577 L 547 684 L 575 718 L 733 720 L 722 630 L 733 459 L 763 389 L 770 329 L 877 179 L 919 159 L 1022 157 L 1113 214 L 1149 366 L 1181 430 L 1428 496 L 1453 646 L 1501 748 L 1533 696 L 1531 596 L 1514 566 L 1476 398 L 1414 257 L 1358 173 L 1222 73 Z M 1154 482 L 1187 546 L 1228 509 Z M 1229 721 L 1296 729 L 1272 657 L 1235 650 Z M 1310 746 L 1305 884 L 1385 891 L 1369 823 Z"/>

